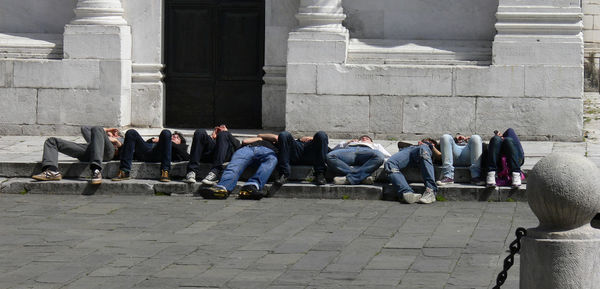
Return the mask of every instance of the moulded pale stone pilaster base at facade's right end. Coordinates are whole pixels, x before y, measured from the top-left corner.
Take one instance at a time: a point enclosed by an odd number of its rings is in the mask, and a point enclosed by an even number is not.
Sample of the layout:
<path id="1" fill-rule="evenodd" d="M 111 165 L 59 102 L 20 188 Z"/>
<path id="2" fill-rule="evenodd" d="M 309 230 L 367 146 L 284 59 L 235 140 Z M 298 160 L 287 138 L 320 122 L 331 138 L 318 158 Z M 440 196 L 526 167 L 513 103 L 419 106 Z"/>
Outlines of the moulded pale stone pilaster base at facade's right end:
<path id="1" fill-rule="evenodd" d="M 500 0 L 496 18 L 493 64 L 583 64 L 579 1 Z"/>

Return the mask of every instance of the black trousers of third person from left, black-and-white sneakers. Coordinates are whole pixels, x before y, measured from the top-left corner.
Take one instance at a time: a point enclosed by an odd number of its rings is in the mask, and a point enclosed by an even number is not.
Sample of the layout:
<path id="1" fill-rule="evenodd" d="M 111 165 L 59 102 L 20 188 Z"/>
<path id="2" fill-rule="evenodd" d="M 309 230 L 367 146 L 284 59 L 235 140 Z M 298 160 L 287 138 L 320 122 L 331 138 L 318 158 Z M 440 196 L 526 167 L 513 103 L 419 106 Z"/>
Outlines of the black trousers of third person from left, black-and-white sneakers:
<path id="1" fill-rule="evenodd" d="M 192 140 L 190 161 L 187 171 L 198 173 L 200 162 L 212 163 L 211 172 L 220 174 L 223 171 L 223 163 L 230 161 L 236 147 L 235 137 L 228 131 L 217 134 L 217 138 L 211 138 L 206 130 L 197 129 Z"/>

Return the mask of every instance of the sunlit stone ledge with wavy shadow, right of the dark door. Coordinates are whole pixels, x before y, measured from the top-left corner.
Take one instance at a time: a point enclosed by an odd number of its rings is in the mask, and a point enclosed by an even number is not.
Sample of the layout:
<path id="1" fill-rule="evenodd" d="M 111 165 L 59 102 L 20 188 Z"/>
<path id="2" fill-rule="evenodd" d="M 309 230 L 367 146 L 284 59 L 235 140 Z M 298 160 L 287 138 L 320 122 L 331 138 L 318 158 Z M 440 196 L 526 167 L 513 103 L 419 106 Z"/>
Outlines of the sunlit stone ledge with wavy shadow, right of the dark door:
<path id="1" fill-rule="evenodd" d="M 491 41 L 351 39 L 349 64 L 490 65 Z"/>

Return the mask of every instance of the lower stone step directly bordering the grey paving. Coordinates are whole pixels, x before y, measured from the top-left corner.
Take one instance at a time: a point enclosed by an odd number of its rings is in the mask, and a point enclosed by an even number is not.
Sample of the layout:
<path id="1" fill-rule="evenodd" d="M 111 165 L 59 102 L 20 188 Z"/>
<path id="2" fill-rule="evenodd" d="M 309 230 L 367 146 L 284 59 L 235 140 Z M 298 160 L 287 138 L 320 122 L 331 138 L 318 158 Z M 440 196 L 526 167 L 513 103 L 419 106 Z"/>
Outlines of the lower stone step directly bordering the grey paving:
<path id="1" fill-rule="evenodd" d="M 240 182 L 233 192 L 237 195 Z M 410 184 L 416 192 L 422 192 L 421 183 Z M 172 195 L 197 196 L 201 184 L 187 184 L 181 181 L 162 183 L 155 180 L 132 179 L 113 182 L 105 180 L 101 185 L 90 185 L 87 179 L 63 179 L 61 181 L 40 182 L 30 178 L 0 179 L 0 193 L 3 194 L 60 194 L 60 195 Z M 397 201 L 394 188 L 390 184 L 375 185 L 333 185 L 316 186 L 310 183 L 293 182 L 282 187 L 271 184 L 266 192 L 274 198 L 311 199 L 356 199 Z M 526 185 L 519 189 L 499 187 L 497 189 L 467 184 L 453 184 L 439 188 L 438 199 L 447 201 L 525 201 Z"/>

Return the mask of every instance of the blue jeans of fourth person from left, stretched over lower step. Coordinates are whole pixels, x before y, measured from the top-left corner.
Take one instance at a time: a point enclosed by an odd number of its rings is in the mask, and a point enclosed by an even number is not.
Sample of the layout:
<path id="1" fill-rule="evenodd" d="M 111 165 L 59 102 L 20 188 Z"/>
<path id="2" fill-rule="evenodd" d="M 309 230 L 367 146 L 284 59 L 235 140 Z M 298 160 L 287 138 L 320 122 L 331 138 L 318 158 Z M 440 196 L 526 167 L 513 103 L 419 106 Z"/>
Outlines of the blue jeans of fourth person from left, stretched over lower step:
<path id="1" fill-rule="evenodd" d="M 262 190 L 277 165 L 277 155 L 272 149 L 263 146 L 242 147 L 233 154 L 217 185 L 228 192 L 233 191 L 238 179 L 250 165 L 258 165 L 258 169 L 246 185 L 251 184 Z"/>

